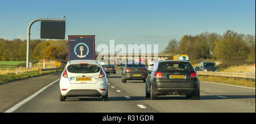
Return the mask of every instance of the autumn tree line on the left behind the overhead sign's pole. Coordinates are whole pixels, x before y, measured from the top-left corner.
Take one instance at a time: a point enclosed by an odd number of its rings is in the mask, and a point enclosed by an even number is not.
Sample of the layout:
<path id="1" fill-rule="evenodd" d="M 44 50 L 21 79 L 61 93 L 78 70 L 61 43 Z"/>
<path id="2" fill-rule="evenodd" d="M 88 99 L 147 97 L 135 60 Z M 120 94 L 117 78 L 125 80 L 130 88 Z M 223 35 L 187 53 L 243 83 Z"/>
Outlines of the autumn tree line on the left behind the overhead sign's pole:
<path id="1" fill-rule="evenodd" d="M 1 61 L 26 61 L 27 40 L 0 39 Z M 64 59 L 68 56 L 67 40 L 30 40 L 30 60 Z"/>

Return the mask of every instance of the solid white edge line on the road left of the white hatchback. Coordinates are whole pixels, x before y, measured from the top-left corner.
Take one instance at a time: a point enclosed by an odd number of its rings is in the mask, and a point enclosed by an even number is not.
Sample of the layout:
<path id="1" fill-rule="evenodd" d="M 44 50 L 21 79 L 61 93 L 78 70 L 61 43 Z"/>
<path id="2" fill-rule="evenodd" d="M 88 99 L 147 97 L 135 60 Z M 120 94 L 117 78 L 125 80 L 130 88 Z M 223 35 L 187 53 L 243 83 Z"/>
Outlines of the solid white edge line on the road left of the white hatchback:
<path id="1" fill-rule="evenodd" d="M 18 104 L 16 104 L 15 106 L 13 106 L 11 109 L 5 111 L 5 113 L 12 113 L 13 111 L 15 111 L 16 109 L 18 109 L 20 106 L 22 106 L 23 104 L 26 104 L 26 102 L 30 101 L 32 98 L 36 97 L 39 93 L 43 92 L 43 90 L 45 90 L 46 88 L 48 88 L 49 86 L 53 85 L 55 82 L 59 81 L 60 79 L 57 79 L 53 82 L 51 82 L 51 84 L 48 84 L 47 86 L 44 86 L 44 88 L 38 90 L 38 92 L 32 94 L 30 97 L 26 98 L 25 100 L 19 102 Z"/>

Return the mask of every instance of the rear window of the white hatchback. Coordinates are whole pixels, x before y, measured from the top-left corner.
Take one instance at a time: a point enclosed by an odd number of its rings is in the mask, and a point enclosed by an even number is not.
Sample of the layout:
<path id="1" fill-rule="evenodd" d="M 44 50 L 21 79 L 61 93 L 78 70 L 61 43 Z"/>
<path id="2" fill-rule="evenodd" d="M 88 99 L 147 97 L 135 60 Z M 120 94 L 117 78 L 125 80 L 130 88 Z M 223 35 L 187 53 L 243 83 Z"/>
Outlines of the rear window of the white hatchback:
<path id="1" fill-rule="evenodd" d="M 67 69 L 71 73 L 97 73 L 101 68 L 95 64 L 72 64 Z"/>

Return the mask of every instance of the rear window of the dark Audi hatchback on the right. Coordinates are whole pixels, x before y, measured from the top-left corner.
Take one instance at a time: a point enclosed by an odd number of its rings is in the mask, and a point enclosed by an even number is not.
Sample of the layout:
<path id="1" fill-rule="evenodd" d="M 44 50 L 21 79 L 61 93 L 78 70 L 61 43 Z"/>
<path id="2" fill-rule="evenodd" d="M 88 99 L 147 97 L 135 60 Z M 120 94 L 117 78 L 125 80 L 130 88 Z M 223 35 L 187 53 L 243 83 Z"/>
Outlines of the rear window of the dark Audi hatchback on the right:
<path id="1" fill-rule="evenodd" d="M 185 62 L 164 62 L 159 63 L 159 71 L 188 71 L 192 72 L 193 67 L 190 63 Z"/>

